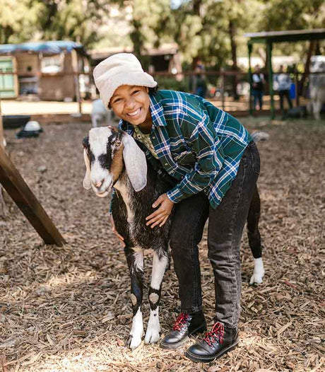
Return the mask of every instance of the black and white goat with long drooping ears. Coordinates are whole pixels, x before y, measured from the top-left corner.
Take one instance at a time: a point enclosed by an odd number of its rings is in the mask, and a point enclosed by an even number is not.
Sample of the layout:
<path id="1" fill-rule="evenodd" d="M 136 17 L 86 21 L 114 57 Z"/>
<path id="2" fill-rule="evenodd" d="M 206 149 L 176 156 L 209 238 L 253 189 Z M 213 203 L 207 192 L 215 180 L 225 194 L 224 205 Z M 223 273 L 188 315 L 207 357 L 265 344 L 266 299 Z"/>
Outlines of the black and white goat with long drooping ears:
<path id="1" fill-rule="evenodd" d="M 255 139 L 261 139 L 257 134 Z M 126 342 L 131 349 L 141 343 L 143 321 L 143 250 L 153 250 L 153 269 L 149 289 L 150 317 L 145 342 L 157 342 L 160 335 L 158 310 L 162 277 L 168 263 L 170 220 L 161 228 L 146 226 L 146 216 L 152 213 L 152 204 L 169 187 L 158 177 L 133 137 L 114 127 L 90 129 L 83 140 L 86 165 L 83 187 L 93 188 L 99 197 L 105 197 L 114 186 L 112 215 L 117 231 L 124 237 L 124 252 L 131 275 L 131 303 L 134 313 L 131 332 Z M 254 274 L 250 284 L 261 283 L 264 267 L 261 258 L 259 234 L 260 199 L 257 187 L 247 218 L 249 247 L 254 256 Z"/>

